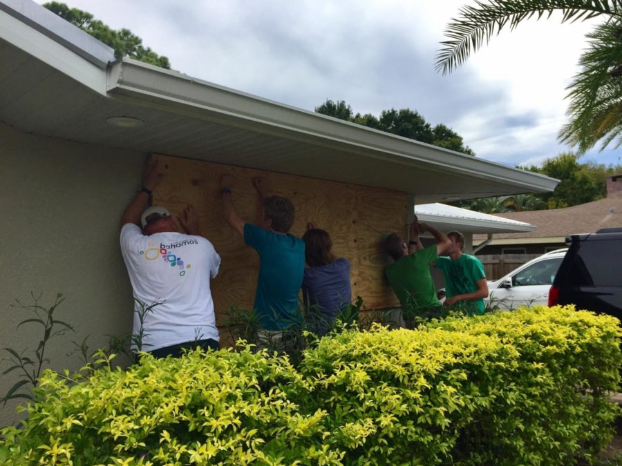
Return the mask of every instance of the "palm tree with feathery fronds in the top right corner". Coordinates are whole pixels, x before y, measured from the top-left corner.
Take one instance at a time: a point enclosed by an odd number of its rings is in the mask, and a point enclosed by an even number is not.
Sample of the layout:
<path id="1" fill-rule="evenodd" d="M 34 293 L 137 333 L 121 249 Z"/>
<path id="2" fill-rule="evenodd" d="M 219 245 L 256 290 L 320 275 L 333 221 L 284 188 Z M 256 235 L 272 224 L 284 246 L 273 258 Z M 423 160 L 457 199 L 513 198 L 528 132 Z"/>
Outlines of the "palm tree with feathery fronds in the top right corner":
<path id="1" fill-rule="evenodd" d="M 619 0 L 489 0 L 464 6 L 446 28 L 436 68 L 451 72 L 478 50 L 484 41 L 531 17 L 563 13 L 562 22 L 585 21 L 602 15 L 605 21 L 590 35 L 590 45 L 579 60 L 581 72 L 568 86 L 569 123 L 559 134 L 562 142 L 585 153 L 602 141 L 601 151 L 614 139 L 622 144 L 622 9 Z"/>

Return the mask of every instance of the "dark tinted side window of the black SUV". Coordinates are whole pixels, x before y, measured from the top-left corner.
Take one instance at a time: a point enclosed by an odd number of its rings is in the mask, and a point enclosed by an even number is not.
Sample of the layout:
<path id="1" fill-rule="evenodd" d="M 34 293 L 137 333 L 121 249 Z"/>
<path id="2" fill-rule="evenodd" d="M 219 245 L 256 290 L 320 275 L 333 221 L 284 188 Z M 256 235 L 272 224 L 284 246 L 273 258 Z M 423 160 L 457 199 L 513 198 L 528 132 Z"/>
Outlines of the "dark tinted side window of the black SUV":
<path id="1" fill-rule="evenodd" d="M 622 241 L 585 241 L 569 267 L 567 283 L 574 287 L 622 287 L 620 258 Z"/>

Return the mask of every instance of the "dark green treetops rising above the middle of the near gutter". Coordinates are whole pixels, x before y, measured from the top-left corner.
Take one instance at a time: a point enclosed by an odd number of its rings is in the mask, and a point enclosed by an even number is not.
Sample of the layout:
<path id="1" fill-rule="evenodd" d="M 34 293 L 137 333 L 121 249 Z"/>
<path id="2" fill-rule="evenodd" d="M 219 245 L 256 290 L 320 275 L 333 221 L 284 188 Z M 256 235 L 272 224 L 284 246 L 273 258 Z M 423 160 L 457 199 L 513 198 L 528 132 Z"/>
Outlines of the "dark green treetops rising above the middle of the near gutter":
<path id="1" fill-rule="evenodd" d="M 335 102 L 326 99 L 323 104 L 315 108 L 315 111 L 322 115 L 368 126 L 386 133 L 408 137 L 408 139 L 433 144 L 451 151 L 475 155 L 469 146 L 464 146 L 462 137 L 455 133 L 454 130 L 444 124 L 437 124 L 432 127 L 431 124 L 426 122 L 424 117 L 410 108 L 382 110 L 380 117 L 375 117 L 370 113 L 365 115 L 357 113 L 355 115 L 352 107 L 346 104 L 346 101 L 338 100 Z"/>

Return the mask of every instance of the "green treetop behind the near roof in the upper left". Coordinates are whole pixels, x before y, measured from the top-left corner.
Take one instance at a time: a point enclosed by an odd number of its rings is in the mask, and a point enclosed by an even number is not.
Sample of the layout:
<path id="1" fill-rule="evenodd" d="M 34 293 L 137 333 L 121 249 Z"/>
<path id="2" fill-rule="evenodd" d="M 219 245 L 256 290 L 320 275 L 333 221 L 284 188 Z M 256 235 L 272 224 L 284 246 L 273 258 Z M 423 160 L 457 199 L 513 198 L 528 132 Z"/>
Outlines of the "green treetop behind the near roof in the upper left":
<path id="1" fill-rule="evenodd" d="M 43 6 L 65 21 L 72 23 L 73 26 L 88 32 L 95 39 L 113 48 L 117 58 L 130 57 L 151 65 L 160 66 L 160 68 L 171 69 L 171 64 L 167 57 L 158 55 L 149 47 L 145 48 L 142 45 L 142 39 L 132 34 L 129 29 L 114 30 L 99 19 L 95 19 L 93 14 L 78 10 L 77 8 L 69 8 L 65 3 L 50 1 L 44 3 Z"/>

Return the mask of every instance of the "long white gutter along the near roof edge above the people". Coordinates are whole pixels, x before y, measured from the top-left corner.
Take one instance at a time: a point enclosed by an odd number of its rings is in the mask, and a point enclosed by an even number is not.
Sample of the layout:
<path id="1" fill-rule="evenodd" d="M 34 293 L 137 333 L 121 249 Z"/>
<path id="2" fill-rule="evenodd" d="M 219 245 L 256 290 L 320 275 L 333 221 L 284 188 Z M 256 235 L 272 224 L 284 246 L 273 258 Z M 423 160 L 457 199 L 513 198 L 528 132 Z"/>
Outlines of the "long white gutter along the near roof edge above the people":
<path id="1" fill-rule="evenodd" d="M 422 162 L 440 172 L 460 173 L 480 179 L 516 186 L 517 193 L 553 191 L 559 180 L 530 173 L 495 162 L 449 151 L 366 128 L 350 122 L 319 115 L 217 86 L 171 70 L 124 58 L 109 70 L 107 88 L 111 95 L 135 97 L 147 104 L 176 106 L 176 111 L 200 117 L 207 111 L 211 118 L 222 119 L 234 126 L 287 134 L 290 139 L 330 143 L 343 150 L 357 148 L 366 156 L 397 164 Z M 180 109 L 185 107 L 185 110 Z M 160 106 L 160 108 L 162 108 Z M 194 109 L 194 110 L 193 110 Z"/>

